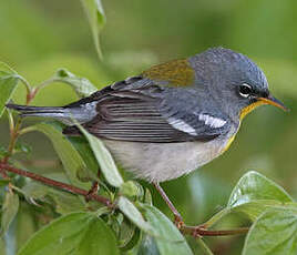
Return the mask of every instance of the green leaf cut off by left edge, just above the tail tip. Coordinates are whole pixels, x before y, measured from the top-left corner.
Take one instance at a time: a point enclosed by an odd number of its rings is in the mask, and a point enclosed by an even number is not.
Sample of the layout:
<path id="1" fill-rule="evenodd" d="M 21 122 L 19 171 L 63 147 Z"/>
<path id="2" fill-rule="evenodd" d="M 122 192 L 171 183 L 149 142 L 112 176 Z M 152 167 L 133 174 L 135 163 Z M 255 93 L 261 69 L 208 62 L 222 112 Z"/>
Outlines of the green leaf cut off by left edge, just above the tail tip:
<path id="1" fill-rule="evenodd" d="M 0 118 L 17 88 L 18 80 L 18 74 L 6 63 L 0 62 Z"/>

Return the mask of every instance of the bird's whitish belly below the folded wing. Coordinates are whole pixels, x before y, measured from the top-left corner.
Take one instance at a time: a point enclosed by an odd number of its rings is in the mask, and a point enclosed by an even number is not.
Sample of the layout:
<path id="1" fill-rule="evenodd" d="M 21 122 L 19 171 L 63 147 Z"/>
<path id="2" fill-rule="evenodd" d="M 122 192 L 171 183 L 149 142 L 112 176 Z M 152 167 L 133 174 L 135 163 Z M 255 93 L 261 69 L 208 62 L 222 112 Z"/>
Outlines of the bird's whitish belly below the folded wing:
<path id="1" fill-rule="evenodd" d="M 218 156 L 226 141 L 137 143 L 104 140 L 115 160 L 139 178 L 164 182 L 177 178 Z"/>

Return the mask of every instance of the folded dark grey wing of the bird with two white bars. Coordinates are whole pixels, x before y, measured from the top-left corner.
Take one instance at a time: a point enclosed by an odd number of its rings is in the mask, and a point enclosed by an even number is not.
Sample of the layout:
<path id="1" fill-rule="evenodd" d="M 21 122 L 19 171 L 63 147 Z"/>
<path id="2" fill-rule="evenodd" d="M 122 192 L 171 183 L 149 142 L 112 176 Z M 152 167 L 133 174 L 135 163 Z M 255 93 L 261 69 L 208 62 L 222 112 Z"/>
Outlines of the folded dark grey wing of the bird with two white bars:
<path id="1" fill-rule="evenodd" d="M 178 109 L 178 104 L 163 96 L 167 94 L 165 90 L 148 79 L 134 76 L 68 106 L 96 101 L 98 115 L 83 126 L 104 139 L 165 143 L 209 141 L 222 134 L 225 120 L 197 109 Z M 64 130 L 65 134 L 75 132 L 74 126 Z"/>

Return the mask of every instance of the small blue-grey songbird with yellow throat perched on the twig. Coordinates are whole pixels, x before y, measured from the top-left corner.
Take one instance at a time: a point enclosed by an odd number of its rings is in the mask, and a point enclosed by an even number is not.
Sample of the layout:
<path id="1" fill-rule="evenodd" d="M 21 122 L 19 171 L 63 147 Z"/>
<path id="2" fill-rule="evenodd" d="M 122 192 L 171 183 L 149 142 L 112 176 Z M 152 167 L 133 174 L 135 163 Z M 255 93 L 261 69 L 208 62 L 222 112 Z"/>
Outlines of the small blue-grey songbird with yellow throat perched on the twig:
<path id="1" fill-rule="evenodd" d="M 21 116 L 53 118 L 65 135 L 80 135 L 75 119 L 101 139 L 116 162 L 153 183 L 174 214 L 160 183 L 177 178 L 223 154 L 242 120 L 259 105 L 288 109 L 269 92 L 246 55 L 222 47 L 153 65 L 64 106 L 8 104 Z"/>

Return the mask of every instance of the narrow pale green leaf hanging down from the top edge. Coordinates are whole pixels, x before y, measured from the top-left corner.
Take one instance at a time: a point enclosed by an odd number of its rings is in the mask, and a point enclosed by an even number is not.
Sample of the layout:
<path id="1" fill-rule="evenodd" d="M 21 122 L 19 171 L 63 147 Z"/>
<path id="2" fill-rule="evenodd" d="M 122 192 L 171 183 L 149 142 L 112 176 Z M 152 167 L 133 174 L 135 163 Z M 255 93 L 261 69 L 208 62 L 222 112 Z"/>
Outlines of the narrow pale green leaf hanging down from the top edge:
<path id="1" fill-rule="evenodd" d="M 100 59 L 102 59 L 102 52 L 100 49 L 99 35 L 106 23 L 106 17 L 101 3 L 101 0 L 81 0 L 85 14 L 88 17 L 96 52 Z"/>

